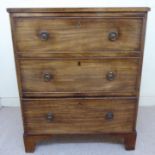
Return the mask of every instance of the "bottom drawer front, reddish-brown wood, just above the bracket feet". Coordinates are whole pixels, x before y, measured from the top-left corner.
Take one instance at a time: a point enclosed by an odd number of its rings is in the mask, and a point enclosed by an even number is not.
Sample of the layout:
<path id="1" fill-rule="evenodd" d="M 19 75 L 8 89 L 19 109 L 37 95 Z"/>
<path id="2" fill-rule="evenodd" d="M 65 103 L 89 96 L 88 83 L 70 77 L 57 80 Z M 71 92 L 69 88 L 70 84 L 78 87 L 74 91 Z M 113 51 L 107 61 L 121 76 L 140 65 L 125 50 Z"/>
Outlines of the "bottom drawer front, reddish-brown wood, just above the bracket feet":
<path id="1" fill-rule="evenodd" d="M 23 99 L 28 134 L 131 132 L 136 99 Z"/>

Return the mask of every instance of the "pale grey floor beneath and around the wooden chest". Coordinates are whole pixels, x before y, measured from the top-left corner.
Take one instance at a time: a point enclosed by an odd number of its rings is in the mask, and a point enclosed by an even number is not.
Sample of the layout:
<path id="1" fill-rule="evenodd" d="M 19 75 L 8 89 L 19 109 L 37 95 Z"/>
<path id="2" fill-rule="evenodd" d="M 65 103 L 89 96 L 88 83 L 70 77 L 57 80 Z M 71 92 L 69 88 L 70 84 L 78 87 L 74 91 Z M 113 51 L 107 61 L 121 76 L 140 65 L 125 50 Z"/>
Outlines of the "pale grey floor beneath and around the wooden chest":
<path id="1" fill-rule="evenodd" d="M 140 107 L 135 151 L 125 151 L 111 137 L 65 137 L 42 142 L 34 153 L 25 153 L 19 108 L 0 109 L 0 155 L 155 155 L 155 107 Z"/>

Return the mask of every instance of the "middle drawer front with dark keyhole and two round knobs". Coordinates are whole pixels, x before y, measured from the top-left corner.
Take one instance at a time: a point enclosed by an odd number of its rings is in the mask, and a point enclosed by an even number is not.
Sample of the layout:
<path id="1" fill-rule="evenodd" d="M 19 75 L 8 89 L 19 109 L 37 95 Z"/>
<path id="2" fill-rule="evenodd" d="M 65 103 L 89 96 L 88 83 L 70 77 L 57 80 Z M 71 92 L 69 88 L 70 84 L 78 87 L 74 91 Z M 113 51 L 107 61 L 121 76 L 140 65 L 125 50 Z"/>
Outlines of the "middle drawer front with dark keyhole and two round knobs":
<path id="1" fill-rule="evenodd" d="M 24 96 L 135 95 L 139 59 L 20 60 Z"/>

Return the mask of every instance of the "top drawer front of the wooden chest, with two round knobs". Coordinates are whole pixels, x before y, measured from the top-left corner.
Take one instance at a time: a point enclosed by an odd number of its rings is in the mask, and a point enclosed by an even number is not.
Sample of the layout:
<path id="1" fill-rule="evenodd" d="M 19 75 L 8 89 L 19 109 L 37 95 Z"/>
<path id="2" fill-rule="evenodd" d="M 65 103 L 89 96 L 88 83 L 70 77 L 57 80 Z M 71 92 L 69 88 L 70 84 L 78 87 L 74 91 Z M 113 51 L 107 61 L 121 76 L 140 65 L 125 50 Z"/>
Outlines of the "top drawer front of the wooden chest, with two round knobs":
<path id="1" fill-rule="evenodd" d="M 140 50 L 141 18 L 17 18 L 17 52 Z"/>

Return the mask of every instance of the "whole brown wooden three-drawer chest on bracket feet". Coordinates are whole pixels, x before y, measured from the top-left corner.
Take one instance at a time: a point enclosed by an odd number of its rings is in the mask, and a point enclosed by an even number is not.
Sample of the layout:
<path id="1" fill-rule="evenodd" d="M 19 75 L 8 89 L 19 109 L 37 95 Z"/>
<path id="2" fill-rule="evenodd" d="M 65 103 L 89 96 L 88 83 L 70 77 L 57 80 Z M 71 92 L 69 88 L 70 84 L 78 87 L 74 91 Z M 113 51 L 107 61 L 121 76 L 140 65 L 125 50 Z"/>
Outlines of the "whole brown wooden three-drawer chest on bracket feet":
<path id="1" fill-rule="evenodd" d="M 51 135 L 135 148 L 149 8 L 8 9 L 26 152 Z"/>

